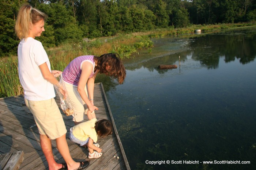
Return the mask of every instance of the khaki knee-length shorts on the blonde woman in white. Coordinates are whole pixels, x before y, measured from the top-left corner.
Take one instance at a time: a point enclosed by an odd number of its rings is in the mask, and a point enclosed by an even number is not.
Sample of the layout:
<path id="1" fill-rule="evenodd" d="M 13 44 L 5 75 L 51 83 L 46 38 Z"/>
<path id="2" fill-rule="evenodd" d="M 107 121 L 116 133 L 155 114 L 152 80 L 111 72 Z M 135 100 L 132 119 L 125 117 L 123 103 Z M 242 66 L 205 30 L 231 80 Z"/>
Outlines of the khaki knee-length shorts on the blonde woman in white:
<path id="1" fill-rule="evenodd" d="M 54 140 L 67 133 L 63 117 L 54 98 L 43 101 L 25 99 L 26 106 L 32 112 L 39 133 Z"/>

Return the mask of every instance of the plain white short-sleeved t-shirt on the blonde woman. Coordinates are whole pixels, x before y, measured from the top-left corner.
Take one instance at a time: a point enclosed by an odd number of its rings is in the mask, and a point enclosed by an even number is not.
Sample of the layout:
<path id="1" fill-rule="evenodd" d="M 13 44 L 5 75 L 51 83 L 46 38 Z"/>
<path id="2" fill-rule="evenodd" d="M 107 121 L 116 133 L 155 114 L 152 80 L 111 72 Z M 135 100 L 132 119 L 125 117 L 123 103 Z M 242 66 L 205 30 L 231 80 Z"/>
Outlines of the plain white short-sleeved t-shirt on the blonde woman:
<path id="1" fill-rule="evenodd" d="M 44 79 L 38 67 L 45 62 L 51 71 L 49 58 L 41 42 L 31 37 L 20 41 L 18 46 L 19 80 L 27 100 L 41 101 L 55 97 L 53 84 Z"/>

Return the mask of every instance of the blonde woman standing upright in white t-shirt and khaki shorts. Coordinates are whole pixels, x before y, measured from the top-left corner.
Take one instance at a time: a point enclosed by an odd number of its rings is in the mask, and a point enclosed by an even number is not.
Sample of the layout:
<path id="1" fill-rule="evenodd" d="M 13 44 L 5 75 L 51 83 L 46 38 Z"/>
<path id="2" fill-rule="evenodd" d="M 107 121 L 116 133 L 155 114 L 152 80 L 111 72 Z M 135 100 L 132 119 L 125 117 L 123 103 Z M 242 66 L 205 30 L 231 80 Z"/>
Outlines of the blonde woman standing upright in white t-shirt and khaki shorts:
<path id="1" fill-rule="evenodd" d="M 51 70 L 49 58 L 42 43 L 35 40 L 44 30 L 47 15 L 25 4 L 19 9 L 15 31 L 20 39 L 18 46 L 18 70 L 20 84 L 24 89 L 27 107 L 32 112 L 40 133 L 40 144 L 49 165 L 49 170 L 81 170 L 88 161 L 75 162 L 69 153 L 67 130 L 60 110 L 54 100 L 56 85 L 65 95 L 55 78 L 62 73 Z M 52 153 L 51 140 L 56 139 L 57 148 L 66 163 L 57 163 Z"/>

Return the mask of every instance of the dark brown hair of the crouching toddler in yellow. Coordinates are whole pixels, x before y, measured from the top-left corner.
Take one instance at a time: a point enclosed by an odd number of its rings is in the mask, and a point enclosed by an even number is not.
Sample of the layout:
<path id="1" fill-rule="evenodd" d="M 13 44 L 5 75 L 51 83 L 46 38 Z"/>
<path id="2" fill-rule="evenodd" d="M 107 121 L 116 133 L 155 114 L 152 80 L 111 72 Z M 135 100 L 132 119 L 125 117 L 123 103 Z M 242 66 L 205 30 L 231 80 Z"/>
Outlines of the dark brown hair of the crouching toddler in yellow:
<path id="1" fill-rule="evenodd" d="M 95 131 L 97 135 L 105 137 L 112 134 L 113 124 L 107 119 L 99 120 L 95 123 Z"/>

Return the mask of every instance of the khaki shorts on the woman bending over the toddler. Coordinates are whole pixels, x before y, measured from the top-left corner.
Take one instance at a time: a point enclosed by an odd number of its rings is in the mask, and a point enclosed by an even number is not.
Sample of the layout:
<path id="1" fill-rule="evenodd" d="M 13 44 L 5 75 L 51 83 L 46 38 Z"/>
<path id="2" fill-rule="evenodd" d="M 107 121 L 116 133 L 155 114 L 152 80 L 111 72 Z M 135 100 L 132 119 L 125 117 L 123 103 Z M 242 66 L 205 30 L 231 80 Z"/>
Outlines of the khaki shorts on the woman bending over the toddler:
<path id="1" fill-rule="evenodd" d="M 84 110 L 87 108 L 87 105 L 84 103 L 83 99 L 81 98 L 77 87 L 71 84 L 65 83 L 65 88 L 68 92 L 68 97 L 70 99 L 70 103 L 72 105 L 72 109 L 74 110 L 73 121 L 82 122 L 84 121 Z M 87 88 L 84 88 L 86 95 L 88 97 Z"/>

